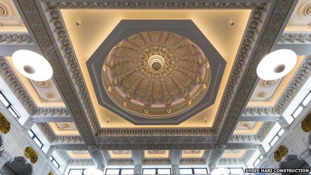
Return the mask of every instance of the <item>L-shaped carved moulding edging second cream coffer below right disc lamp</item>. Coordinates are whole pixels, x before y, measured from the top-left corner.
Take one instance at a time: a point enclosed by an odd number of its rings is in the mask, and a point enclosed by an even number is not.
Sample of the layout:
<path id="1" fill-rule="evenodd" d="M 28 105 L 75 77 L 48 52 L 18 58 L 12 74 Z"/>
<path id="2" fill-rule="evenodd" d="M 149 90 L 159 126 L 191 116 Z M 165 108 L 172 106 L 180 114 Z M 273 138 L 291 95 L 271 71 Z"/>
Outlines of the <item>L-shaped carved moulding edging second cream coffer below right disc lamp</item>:
<path id="1" fill-rule="evenodd" d="M 262 142 L 276 122 L 265 122 L 256 135 L 232 135 L 230 142 Z"/>

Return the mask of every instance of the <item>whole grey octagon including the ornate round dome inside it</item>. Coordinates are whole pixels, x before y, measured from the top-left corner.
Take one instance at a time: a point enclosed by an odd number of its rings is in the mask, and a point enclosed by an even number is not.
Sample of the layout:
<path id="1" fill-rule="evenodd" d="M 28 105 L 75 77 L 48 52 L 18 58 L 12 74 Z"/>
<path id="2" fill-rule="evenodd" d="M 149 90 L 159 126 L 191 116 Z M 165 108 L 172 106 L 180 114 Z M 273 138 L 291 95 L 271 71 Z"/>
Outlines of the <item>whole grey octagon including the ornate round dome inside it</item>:
<path id="1" fill-rule="evenodd" d="M 121 20 L 86 62 L 99 105 L 137 125 L 212 105 L 225 64 L 191 20 L 168 19 Z"/>

